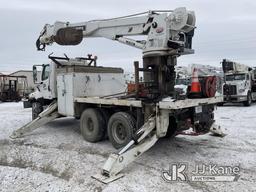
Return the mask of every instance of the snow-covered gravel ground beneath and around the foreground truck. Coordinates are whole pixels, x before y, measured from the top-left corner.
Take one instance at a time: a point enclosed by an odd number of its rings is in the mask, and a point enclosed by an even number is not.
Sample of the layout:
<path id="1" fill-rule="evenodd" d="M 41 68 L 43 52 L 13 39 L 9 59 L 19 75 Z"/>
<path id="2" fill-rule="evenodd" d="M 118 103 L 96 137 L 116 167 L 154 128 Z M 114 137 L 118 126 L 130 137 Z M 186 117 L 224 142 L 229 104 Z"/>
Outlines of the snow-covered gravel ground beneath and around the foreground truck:
<path id="1" fill-rule="evenodd" d="M 256 105 L 224 106 L 215 113 L 225 138 L 208 135 L 162 139 L 109 185 L 91 178 L 100 172 L 108 141 L 91 144 L 79 133 L 79 121 L 59 119 L 25 138 L 11 132 L 30 121 L 22 103 L 0 103 L 0 191 L 256 191 Z M 172 182 L 161 172 L 174 162 L 239 165 L 237 182 Z"/>

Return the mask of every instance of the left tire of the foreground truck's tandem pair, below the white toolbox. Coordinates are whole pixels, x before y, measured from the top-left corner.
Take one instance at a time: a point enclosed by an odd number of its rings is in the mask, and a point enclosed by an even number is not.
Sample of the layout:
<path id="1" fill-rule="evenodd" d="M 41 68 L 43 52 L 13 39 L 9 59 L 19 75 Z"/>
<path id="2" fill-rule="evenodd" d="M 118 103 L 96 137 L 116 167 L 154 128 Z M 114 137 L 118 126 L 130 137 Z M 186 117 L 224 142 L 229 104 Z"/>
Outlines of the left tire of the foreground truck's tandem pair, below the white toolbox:
<path id="1" fill-rule="evenodd" d="M 83 138 L 96 143 L 104 138 L 106 122 L 98 109 L 86 109 L 80 118 L 80 130 Z"/>

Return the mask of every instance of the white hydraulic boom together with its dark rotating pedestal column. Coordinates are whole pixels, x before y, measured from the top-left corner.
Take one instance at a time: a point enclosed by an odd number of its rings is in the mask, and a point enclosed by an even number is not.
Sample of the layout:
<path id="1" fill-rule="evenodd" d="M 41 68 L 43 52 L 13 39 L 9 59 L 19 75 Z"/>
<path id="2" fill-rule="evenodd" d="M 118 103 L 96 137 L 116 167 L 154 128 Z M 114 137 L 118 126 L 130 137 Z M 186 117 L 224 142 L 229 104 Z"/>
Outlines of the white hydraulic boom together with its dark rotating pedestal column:
<path id="1" fill-rule="evenodd" d="M 46 24 L 36 42 L 38 50 L 56 42 L 78 45 L 83 38 L 104 37 L 139 48 L 143 52 L 144 81 L 149 83 L 149 99 L 173 96 L 177 57 L 192 54 L 195 14 L 186 8 L 173 11 L 149 11 L 119 18 L 82 23 Z M 135 40 L 129 36 L 146 36 Z M 145 38 L 144 38 L 145 39 Z"/>

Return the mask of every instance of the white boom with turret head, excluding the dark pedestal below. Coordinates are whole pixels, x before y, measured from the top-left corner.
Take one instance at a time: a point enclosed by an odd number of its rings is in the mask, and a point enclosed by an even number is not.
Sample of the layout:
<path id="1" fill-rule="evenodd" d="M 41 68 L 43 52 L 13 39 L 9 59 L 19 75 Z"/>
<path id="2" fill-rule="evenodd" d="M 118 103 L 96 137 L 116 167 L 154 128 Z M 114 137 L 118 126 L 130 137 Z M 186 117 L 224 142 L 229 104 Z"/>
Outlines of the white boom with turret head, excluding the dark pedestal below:
<path id="1" fill-rule="evenodd" d="M 169 12 L 169 13 L 168 13 Z M 46 24 L 37 40 L 38 50 L 56 42 L 59 45 L 78 45 L 83 38 L 104 37 L 143 50 L 144 54 L 191 53 L 195 14 L 186 8 L 174 11 L 149 11 L 113 19 L 81 23 L 55 22 Z M 146 35 L 147 40 L 126 36 Z"/>

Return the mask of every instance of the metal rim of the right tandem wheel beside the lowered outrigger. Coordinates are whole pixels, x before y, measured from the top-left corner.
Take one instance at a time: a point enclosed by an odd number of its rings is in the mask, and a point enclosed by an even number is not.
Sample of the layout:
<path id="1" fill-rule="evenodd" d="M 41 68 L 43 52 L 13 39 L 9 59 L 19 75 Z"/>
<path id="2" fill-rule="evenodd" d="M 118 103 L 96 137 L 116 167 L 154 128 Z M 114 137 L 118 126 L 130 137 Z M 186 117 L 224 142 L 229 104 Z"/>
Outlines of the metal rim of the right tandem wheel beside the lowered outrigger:
<path id="1" fill-rule="evenodd" d="M 112 135 L 114 140 L 121 144 L 127 138 L 127 132 L 122 122 L 115 122 L 112 126 Z"/>

